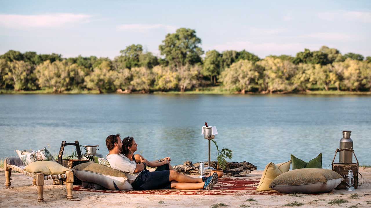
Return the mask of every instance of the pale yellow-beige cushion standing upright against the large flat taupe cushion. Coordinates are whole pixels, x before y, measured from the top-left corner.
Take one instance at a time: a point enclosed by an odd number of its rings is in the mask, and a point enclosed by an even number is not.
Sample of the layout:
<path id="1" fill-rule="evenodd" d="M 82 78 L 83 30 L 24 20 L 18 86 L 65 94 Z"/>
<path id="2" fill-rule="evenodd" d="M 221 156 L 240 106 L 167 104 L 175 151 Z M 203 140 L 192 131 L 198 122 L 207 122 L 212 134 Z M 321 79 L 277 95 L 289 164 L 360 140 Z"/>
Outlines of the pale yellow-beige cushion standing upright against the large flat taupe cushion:
<path id="1" fill-rule="evenodd" d="M 262 178 L 260 178 L 259 185 L 256 188 L 256 191 L 270 191 L 273 190 L 269 188 L 270 182 L 273 181 L 277 176 L 281 175 L 283 172 L 287 172 L 290 170 L 291 160 L 287 162 L 282 162 L 279 164 L 274 164 L 273 162 L 268 163 L 265 166 L 265 169 L 262 174 Z"/>

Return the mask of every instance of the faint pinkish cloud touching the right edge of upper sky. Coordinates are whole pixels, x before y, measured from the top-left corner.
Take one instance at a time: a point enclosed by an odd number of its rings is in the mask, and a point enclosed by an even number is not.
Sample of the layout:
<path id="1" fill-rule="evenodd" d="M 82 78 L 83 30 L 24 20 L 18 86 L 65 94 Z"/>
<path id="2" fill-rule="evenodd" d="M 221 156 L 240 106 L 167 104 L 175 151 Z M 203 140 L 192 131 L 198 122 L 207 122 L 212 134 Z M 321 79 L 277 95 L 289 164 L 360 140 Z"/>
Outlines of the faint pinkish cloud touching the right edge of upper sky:
<path id="1" fill-rule="evenodd" d="M 371 12 L 370 11 L 330 11 L 322 12 L 317 15 L 320 19 L 323 20 L 338 20 L 338 21 L 362 21 L 364 23 L 371 23 Z"/>

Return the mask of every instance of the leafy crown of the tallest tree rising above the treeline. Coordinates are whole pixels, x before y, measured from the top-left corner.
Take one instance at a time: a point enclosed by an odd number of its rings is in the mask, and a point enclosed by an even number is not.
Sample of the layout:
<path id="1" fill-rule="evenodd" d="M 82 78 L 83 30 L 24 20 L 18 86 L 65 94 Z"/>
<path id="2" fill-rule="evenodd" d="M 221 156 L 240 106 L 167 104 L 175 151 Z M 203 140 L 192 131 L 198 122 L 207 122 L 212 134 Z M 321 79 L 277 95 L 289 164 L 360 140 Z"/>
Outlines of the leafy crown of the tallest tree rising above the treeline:
<path id="1" fill-rule="evenodd" d="M 204 51 L 195 30 L 179 28 L 175 33 L 168 33 L 162 43 L 158 48 L 171 66 L 180 67 L 201 62 L 200 56 Z"/>

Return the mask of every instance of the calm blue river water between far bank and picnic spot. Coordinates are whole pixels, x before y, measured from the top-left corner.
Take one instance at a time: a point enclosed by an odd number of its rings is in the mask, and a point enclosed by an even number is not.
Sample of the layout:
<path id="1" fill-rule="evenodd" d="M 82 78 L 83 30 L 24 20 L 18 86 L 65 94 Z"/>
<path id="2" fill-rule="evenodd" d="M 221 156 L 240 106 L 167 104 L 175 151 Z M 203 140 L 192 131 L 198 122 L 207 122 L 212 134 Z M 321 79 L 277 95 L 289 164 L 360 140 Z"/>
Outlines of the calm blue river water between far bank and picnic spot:
<path id="1" fill-rule="evenodd" d="M 320 152 L 326 168 L 341 130 L 353 131 L 360 165 L 371 165 L 371 97 L 351 95 L 0 95 L 0 158 L 43 147 L 57 155 L 61 141 L 75 140 L 98 144 L 105 155 L 105 138 L 120 133 L 134 137 L 148 160 L 206 161 L 205 121 L 217 127 L 219 147 L 233 151 L 230 161 L 258 170 L 290 154 L 309 161 Z M 65 154 L 72 151 L 68 146 Z"/>

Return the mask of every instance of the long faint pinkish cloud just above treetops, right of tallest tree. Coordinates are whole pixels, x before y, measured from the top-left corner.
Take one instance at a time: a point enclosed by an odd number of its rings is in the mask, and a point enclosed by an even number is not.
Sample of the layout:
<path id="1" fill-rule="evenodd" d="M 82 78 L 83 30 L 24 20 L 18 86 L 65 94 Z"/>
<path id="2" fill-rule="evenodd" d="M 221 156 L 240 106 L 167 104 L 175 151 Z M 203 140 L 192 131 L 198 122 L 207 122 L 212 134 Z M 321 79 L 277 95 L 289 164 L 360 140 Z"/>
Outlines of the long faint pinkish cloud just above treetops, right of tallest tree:
<path id="1" fill-rule="evenodd" d="M 294 55 L 298 51 L 302 51 L 303 48 L 309 48 L 310 50 L 318 50 L 321 44 L 302 44 L 302 43 L 255 43 L 251 41 L 234 41 L 227 42 L 224 44 L 216 45 L 210 50 L 215 49 L 217 51 L 225 50 L 247 50 L 250 53 L 254 53 L 259 57 L 265 57 L 271 54 L 289 54 Z"/>

